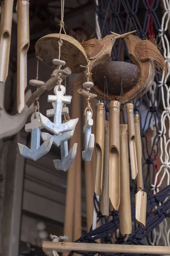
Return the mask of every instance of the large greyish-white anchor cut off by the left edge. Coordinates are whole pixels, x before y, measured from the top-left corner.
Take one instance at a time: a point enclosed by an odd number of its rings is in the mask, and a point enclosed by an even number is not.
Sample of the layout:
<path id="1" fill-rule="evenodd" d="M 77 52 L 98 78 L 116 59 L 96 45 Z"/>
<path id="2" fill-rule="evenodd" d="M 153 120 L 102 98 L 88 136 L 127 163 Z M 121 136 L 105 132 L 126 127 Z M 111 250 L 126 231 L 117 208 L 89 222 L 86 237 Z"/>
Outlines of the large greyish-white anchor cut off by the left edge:
<path id="1" fill-rule="evenodd" d="M 26 124 L 26 120 L 34 112 L 34 105 L 27 108 L 25 105 L 23 111 L 19 114 L 10 115 L 4 107 L 5 84 L 0 83 L 0 139 L 17 134 Z M 31 96 L 31 90 L 25 94 L 25 101 Z"/>

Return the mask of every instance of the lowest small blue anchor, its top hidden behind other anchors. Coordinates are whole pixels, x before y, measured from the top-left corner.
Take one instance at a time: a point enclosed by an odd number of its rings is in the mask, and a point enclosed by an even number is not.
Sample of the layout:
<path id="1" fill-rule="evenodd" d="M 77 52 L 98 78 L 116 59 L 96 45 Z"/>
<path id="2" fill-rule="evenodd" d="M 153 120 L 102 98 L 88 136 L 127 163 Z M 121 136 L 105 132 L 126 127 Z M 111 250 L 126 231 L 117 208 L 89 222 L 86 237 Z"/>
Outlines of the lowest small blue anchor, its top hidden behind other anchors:
<path id="1" fill-rule="evenodd" d="M 57 170 L 67 171 L 74 161 L 77 153 L 77 143 L 74 143 L 71 150 L 68 152 L 68 140 L 61 143 L 61 160 L 53 160 Z"/>

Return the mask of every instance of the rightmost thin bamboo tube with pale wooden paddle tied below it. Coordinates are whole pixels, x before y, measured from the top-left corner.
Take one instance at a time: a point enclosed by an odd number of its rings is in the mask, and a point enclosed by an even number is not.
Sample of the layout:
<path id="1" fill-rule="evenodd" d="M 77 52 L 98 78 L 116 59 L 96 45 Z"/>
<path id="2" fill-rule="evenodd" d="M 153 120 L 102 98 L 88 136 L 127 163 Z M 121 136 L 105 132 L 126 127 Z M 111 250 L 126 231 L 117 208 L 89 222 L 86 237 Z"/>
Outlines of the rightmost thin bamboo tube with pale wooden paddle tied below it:
<path id="1" fill-rule="evenodd" d="M 141 133 L 140 133 L 140 119 L 139 115 L 134 115 L 135 133 L 136 133 L 136 157 L 138 164 L 138 174 L 136 176 L 137 181 L 137 193 L 135 196 L 135 208 L 136 208 L 136 221 L 145 227 L 146 222 L 146 203 L 147 193 L 143 191 L 143 177 L 142 177 L 142 145 L 141 145 Z"/>

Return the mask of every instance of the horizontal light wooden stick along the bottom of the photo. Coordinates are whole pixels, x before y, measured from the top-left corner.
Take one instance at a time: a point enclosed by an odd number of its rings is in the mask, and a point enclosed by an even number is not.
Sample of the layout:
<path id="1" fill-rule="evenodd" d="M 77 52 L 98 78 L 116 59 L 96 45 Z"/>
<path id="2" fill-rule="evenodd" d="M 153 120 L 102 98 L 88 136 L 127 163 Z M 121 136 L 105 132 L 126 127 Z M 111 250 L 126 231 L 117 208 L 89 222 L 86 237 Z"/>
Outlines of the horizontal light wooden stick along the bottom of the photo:
<path id="1" fill-rule="evenodd" d="M 150 245 L 125 245 L 125 244 L 86 244 L 68 242 L 47 242 L 42 244 L 42 250 L 49 252 L 82 251 L 82 252 L 102 252 L 102 253 L 134 253 L 134 254 L 170 254 L 169 246 L 150 246 Z"/>

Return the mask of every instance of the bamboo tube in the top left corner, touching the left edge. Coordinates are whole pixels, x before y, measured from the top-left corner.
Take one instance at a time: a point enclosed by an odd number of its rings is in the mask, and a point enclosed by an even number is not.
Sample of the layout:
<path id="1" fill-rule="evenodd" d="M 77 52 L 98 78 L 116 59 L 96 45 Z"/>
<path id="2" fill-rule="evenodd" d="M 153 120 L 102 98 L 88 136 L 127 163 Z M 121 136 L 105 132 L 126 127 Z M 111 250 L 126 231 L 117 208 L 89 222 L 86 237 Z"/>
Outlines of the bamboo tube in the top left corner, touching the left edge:
<path id="1" fill-rule="evenodd" d="M 3 83 L 8 76 L 13 4 L 14 0 L 4 0 L 3 23 L 0 35 L 0 82 Z"/>

